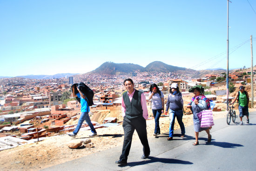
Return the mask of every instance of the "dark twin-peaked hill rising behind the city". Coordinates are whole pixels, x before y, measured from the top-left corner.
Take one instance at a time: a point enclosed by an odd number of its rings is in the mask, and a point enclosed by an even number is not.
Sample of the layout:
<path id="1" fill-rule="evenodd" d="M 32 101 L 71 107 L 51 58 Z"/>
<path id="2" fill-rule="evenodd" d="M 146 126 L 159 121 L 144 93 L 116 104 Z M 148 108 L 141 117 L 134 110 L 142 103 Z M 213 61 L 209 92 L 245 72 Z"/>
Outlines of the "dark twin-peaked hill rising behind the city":
<path id="1" fill-rule="evenodd" d="M 102 74 L 102 75 L 121 75 L 134 73 L 135 71 L 159 71 L 170 72 L 176 70 L 185 70 L 185 68 L 168 65 L 160 61 L 149 63 L 145 68 L 138 64 L 133 63 L 113 63 L 105 62 L 95 70 L 88 72 L 89 74 Z"/>

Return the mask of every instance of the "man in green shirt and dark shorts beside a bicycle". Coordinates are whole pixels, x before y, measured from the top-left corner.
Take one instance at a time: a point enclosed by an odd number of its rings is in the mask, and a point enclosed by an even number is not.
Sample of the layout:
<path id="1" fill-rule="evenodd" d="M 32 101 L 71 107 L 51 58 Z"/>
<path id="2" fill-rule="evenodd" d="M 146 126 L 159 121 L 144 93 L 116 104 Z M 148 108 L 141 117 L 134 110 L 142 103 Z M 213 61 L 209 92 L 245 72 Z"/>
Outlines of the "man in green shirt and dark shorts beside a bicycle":
<path id="1" fill-rule="evenodd" d="M 239 91 L 236 93 L 235 99 L 232 101 L 232 104 L 235 103 L 236 98 L 238 97 L 238 109 L 240 113 L 240 124 L 243 125 L 242 118 L 245 115 L 247 117 L 246 123 L 249 123 L 249 112 L 248 112 L 248 104 L 249 104 L 249 95 L 247 91 L 244 91 L 244 87 L 240 86 Z"/>

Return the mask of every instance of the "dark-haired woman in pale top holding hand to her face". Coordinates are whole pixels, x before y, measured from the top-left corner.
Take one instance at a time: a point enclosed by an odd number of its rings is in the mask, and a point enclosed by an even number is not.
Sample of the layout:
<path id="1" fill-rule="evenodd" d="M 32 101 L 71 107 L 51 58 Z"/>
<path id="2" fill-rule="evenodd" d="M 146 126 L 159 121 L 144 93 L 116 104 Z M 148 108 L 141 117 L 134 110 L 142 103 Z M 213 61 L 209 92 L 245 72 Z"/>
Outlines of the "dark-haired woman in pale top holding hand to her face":
<path id="1" fill-rule="evenodd" d="M 155 118 L 155 132 L 154 136 L 160 134 L 160 127 L 159 127 L 159 118 L 164 110 L 164 101 L 163 101 L 163 93 L 159 90 L 156 84 L 151 84 L 149 88 L 149 100 L 152 99 L 152 113 Z"/>

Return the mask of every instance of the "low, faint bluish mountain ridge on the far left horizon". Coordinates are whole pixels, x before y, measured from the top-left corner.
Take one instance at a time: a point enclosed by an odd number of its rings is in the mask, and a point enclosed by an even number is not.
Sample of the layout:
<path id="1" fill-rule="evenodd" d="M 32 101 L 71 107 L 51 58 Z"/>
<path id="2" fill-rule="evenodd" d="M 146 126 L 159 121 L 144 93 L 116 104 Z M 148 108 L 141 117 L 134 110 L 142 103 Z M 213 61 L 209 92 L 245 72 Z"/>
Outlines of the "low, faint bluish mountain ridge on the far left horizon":
<path id="1" fill-rule="evenodd" d="M 53 79 L 53 78 L 63 78 L 68 76 L 74 76 L 77 74 L 63 73 L 63 74 L 55 74 L 55 75 L 27 75 L 27 76 L 13 76 L 13 77 L 21 77 L 21 78 L 29 78 L 29 79 Z M 0 78 L 11 78 L 12 76 L 0 76 Z"/>

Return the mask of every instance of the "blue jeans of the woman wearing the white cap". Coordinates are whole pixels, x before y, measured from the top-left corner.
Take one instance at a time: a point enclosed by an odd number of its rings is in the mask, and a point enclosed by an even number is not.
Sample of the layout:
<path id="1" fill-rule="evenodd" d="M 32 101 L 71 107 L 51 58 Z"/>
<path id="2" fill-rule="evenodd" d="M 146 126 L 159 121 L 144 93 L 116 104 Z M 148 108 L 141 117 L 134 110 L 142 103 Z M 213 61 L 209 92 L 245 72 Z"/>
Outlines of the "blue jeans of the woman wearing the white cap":
<path id="1" fill-rule="evenodd" d="M 184 124 L 182 122 L 183 111 L 182 110 L 171 110 L 171 109 L 169 109 L 169 117 L 170 117 L 169 137 L 173 137 L 175 117 L 177 117 L 177 121 L 178 121 L 178 123 L 181 127 L 182 134 L 185 134 L 185 127 L 184 127 Z"/>

